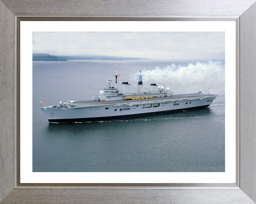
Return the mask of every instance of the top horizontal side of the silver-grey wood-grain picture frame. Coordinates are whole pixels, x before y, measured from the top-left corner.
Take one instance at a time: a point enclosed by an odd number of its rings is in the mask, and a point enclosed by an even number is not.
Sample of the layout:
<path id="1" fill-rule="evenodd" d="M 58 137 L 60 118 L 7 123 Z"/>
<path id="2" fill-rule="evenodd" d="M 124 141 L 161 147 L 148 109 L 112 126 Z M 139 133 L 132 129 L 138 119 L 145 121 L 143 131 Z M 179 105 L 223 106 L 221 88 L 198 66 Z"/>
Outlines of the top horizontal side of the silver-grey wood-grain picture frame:
<path id="1" fill-rule="evenodd" d="M 28 16 L 235 16 L 254 0 L 2 0 Z"/>

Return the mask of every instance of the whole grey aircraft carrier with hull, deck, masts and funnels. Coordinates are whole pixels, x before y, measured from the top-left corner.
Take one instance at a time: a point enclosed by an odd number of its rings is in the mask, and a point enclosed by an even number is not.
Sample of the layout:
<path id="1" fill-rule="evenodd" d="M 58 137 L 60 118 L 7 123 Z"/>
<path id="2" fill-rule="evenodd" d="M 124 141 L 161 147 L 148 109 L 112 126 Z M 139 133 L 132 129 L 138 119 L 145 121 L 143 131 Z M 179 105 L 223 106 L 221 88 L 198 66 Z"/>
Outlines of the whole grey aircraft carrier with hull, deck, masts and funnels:
<path id="1" fill-rule="evenodd" d="M 120 119 L 151 114 L 170 113 L 208 107 L 217 95 L 203 94 L 201 90 L 194 94 L 174 95 L 169 87 L 150 84 L 143 91 L 142 73 L 138 76 L 138 89 L 133 92 L 128 82 L 122 82 L 121 89 L 107 80 L 107 86 L 91 101 L 60 102 L 55 106 L 40 107 L 49 123 L 80 122 L 92 120 Z"/>

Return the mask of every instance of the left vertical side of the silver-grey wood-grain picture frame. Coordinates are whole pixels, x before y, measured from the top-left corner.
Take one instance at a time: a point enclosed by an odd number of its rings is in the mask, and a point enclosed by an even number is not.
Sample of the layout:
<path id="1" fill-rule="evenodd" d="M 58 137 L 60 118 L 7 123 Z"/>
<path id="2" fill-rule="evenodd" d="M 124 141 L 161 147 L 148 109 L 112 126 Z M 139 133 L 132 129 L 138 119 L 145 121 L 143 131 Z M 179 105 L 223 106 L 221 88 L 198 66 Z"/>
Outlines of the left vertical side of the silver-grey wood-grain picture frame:
<path id="1" fill-rule="evenodd" d="M 8 38 L 5 38 L 6 36 Z M 14 48 L 15 16 L 0 1 L 0 200 L 15 186 Z"/>

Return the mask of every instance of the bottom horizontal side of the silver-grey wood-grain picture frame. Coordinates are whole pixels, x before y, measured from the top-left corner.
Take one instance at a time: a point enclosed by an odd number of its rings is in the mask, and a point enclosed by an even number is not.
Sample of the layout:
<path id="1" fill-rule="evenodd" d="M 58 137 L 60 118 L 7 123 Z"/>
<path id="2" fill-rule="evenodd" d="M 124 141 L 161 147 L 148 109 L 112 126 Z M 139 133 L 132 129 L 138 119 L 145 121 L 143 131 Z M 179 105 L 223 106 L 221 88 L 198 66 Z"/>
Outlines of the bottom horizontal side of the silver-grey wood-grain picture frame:
<path id="1" fill-rule="evenodd" d="M 236 189 L 14 189 L 0 204 L 254 204 Z"/>

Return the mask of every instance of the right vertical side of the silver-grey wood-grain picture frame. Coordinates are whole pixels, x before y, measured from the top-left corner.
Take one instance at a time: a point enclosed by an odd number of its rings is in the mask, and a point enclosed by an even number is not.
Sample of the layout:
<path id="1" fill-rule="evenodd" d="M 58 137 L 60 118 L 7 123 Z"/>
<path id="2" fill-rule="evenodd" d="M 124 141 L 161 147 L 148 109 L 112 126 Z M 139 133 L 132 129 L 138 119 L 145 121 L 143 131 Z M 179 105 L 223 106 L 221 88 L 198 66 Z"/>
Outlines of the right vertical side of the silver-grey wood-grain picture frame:
<path id="1" fill-rule="evenodd" d="M 240 188 L 256 202 L 256 4 L 240 21 Z"/>

